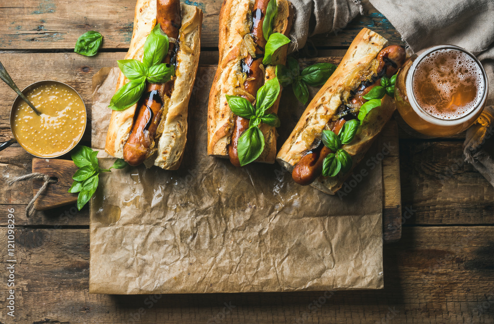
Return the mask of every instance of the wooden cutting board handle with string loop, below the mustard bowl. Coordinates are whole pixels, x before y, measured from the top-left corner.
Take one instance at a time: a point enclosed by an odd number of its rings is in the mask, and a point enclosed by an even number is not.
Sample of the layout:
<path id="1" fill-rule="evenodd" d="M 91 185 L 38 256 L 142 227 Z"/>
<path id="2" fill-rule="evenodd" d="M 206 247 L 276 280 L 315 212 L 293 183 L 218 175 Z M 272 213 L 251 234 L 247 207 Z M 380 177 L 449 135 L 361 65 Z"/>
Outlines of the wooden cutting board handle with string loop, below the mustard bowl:
<path id="1" fill-rule="evenodd" d="M 77 202 L 77 193 L 69 193 L 74 180 L 72 176 L 79 168 L 71 160 L 39 159 L 33 158 L 33 173 L 42 173 L 58 180 L 55 184 L 49 184 L 45 191 L 36 199 L 36 210 L 47 210 L 66 206 Z M 33 195 L 44 184 L 43 180 L 33 180 Z"/>

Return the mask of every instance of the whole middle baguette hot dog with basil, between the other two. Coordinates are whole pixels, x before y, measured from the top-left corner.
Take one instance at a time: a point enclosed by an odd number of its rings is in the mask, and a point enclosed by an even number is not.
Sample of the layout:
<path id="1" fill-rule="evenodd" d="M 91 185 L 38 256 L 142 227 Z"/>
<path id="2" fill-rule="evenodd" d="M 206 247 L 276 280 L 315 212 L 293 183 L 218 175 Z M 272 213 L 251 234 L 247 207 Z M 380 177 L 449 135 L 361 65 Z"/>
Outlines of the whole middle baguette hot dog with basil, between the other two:
<path id="1" fill-rule="evenodd" d="M 274 126 L 277 125 L 274 120 L 277 119 L 280 91 L 275 71 L 277 64 L 285 64 L 287 45 L 274 52 L 271 48 L 275 43 L 274 39 L 287 40 L 283 44 L 289 42 L 286 36 L 291 29 L 291 21 L 292 9 L 287 0 L 223 2 L 220 12 L 218 69 L 208 103 L 208 155 L 228 157 L 235 166 L 245 165 L 252 160 L 274 162 Z M 276 97 L 269 98 L 270 93 L 275 93 Z M 233 96 L 236 98 L 232 98 Z M 235 110 L 232 100 L 237 100 L 239 105 L 247 107 L 247 110 L 251 109 L 251 112 L 244 114 L 236 110 L 235 114 L 232 111 Z M 266 110 L 262 106 L 269 107 Z M 257 155 L 250 154 L 250 148 L 245 145 L 246 140 L 243 139 L 247 133 L 252 135 L 252 141 L 257 140 L 256 143 L 249 142 L 252 146 L 257 145 Z M 242 147 L 239 146 L 239 141 L 244 144 Z"/>

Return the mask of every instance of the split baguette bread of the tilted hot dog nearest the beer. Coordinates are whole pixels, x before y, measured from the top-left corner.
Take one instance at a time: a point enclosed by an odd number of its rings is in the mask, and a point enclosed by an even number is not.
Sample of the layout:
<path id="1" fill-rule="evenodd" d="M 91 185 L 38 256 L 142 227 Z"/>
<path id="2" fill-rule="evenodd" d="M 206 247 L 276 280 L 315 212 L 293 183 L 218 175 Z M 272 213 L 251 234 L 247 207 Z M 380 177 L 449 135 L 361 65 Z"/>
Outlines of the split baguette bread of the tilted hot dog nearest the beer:
<path id="1" fill-rule="evenodd" d="M 359 75 L 365 73 L 375 63 L 375 57 L 386 46 L 387 40 L 377 33 L 364 28 L 353 40 L 350 48 L 341 60 L 334 73 L 307 106 L 287 141 L 278 152 L 276 160 L 288 171 L 301 158 L 301 152 L 309 149 L 310 143 L 317 134 L 321 134 L 328 121 L 334 116 L 341 104 L 345 89 L 355 88 L 359 83 Z M 352 156 L 352 169 L 345 175 L 337 177 L 320 177 L 312 186 L 328 194 L 334 194 L 352 173 L 371 146 L 373 140 L 381 132 L 395 109 L 394 99 L 384 96 L 381 106 L 371 110 L 357 131 L 354 140 L 343 146 Z"/>

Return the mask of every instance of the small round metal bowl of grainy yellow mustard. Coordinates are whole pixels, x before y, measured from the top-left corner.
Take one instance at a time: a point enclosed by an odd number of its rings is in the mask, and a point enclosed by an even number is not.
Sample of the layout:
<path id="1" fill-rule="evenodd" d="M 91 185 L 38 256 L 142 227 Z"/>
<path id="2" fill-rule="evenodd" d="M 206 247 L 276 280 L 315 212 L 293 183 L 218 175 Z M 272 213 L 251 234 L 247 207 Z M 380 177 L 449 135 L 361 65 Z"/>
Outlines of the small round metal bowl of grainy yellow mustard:
<path id="1" fill-rule="evenodd" d="M 87 114 L 81 96 L 69 85 L 38 81 L 22 93 L 40 110 L 36 114 L 20 96 L 10 110 L 10 129 L 27 152 L 41 158 L 68 153 L 82 139 Z"/>

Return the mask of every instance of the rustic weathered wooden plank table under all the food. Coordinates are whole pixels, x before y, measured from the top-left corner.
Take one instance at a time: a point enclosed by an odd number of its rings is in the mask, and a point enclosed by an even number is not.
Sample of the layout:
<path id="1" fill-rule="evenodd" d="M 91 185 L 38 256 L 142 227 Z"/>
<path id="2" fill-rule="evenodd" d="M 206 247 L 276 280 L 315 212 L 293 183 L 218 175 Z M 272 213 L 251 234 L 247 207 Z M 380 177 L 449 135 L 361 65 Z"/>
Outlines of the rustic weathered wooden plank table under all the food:
<path id="1" fill-rule="evenodd" d="M 201 64 L 216 64 L 221 0 L 204 10 Z M 116 66 L 132 34 L 134 0 L 3 0 L 0 61 L 20 88 L 43 79 L 66 82 L 89 107 L 92 75 Z M 338 61 L 363 27 L 400 44 L 393 26 L 364 2 L 347 28 L 311 39 L 302 56 Z M 88 30 L 104 35 L 94 57 L 73 53 Z M 10 138 L 15 97 L 0 84 L 0 140 Z M 90 132 L 85 135 L 87 143 Z M 462 159 L 464 134 L 415 139 L 400 132 L 403 235 L 384 248 L 382 290 L 210 295 L 90 295 L 87 207 L 39 212 L 27 219 L 28 183 L 5 176 L 31 171 L 19 146 L 0 153 L 1 323 L 493 323 L 494 190 Z M 15 317 L 7 315 L 7 215 L 15 212 Z"/>

